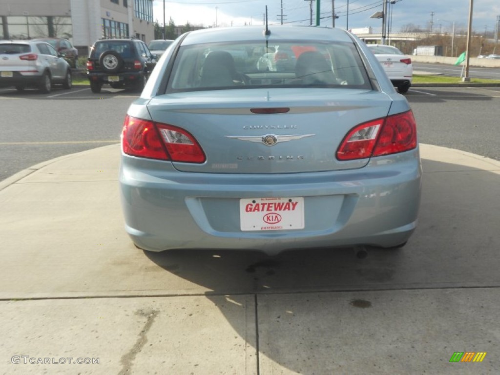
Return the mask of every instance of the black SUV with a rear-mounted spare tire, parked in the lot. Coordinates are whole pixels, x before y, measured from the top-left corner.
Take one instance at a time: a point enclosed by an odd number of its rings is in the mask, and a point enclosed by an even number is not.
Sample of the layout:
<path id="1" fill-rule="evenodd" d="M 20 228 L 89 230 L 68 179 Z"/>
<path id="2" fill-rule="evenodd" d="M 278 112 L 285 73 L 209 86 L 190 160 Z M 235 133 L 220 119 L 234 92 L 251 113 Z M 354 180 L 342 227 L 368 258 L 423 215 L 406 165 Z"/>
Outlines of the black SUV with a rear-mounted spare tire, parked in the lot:
<path id="1" fill-rule="evenodd" d="M 108 83 L 113 88 L 132 86 L 142 91 L 156 58 L 142 40 L 99 39 L 92 45 L 87 60 L 90 88 L 100 92 L 102 84 Z"/>

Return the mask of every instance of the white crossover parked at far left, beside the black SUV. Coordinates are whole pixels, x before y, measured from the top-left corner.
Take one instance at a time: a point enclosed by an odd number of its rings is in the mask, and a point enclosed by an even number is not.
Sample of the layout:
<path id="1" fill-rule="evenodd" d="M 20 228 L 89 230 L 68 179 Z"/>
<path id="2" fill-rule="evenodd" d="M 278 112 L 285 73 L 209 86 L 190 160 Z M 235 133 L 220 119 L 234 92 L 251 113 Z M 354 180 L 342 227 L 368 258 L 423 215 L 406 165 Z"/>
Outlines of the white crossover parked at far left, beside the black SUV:
<path id="1" fill-rule="evenodd" d="M 52 85 L 71 88 L 71 67 L 48 43 L 38 40 L 0 40 L 0 87 L 18 91 L 37 87 L 50 92 Z"/>

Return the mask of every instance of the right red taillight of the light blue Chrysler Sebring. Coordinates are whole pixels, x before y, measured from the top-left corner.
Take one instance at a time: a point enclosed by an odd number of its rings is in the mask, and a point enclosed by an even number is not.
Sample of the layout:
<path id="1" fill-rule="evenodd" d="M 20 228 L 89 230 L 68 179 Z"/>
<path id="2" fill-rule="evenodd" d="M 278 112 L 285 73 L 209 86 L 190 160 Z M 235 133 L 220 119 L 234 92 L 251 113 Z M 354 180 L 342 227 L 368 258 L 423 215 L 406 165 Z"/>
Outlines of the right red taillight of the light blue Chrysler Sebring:
<path id="1" fill-rule="evenodd" d="M 347 133 L 336 152 L 339 160 L 362 159 L 408 151 L 416 147 L 416 123 L 411 110 L 365 122 Z"/>

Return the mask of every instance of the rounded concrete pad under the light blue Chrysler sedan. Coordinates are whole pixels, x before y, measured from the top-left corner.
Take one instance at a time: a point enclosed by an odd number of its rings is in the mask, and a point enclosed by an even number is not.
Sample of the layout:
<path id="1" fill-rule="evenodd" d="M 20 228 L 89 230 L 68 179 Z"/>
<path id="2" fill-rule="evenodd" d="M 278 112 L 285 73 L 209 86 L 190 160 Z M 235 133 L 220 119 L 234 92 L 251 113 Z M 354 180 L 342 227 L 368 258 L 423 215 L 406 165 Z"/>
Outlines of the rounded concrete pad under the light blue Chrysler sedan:
<path id="1" fill-rule="evenodd" d="M 365 259 L 138 250 L 118 145 L 9 177 L 0 374 L 499 373 L 500 162 L 425 144 L 421 156 L 417 230 Z M 487 354 L 449 362 L 466 351 Z"/>

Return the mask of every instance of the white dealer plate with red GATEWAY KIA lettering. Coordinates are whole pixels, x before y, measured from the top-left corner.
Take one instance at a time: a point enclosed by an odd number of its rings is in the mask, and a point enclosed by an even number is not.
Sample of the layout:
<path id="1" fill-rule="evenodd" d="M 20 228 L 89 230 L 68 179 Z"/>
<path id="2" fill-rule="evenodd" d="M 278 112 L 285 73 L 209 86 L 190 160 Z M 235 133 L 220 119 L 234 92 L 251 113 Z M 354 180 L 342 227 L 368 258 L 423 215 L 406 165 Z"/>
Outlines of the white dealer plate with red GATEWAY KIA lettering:
<path id="1" fill-rule="evenodd" d="M 304 228 L 304 198 L 239 199 L 241 230 L 287 230 Z"/>

